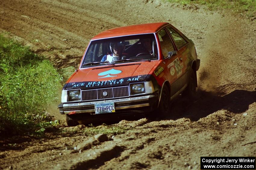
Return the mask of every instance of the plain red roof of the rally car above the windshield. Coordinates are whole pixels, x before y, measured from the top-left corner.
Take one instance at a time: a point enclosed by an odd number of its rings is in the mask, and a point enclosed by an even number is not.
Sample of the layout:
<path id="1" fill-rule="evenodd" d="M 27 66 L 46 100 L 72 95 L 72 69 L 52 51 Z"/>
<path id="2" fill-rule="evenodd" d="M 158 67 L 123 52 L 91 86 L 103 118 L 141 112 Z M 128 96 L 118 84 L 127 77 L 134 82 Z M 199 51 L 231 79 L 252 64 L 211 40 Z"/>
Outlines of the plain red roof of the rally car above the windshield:
<path id="1" fill-rule="evenodd" d="M 146 23 L 146 24 L 111 28 L 97 34 L 95 37 L 92 38 L 92 40 L 110 38 L 110 37 L 119 37 L 119 36 L 125 36 L 125 35 L 155 33 L 160 28 L 168 24 L 169 24 L 168 22 L 155 22 L 155 23 Z"/>

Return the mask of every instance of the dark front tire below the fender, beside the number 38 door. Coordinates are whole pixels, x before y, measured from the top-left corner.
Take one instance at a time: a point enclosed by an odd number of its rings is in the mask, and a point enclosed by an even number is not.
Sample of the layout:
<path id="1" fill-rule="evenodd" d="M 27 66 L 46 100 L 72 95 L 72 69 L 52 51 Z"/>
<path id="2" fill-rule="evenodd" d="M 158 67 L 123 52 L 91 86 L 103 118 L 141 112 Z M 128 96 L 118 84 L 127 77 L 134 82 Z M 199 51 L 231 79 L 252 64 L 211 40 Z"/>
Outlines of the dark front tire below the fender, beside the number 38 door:
<path id="1" fill-rule="evenodd" d="M 160 116 L 165 116 L 170 113 L 170 91 L 167 85 L 163 87 L 158 109 Z"/>

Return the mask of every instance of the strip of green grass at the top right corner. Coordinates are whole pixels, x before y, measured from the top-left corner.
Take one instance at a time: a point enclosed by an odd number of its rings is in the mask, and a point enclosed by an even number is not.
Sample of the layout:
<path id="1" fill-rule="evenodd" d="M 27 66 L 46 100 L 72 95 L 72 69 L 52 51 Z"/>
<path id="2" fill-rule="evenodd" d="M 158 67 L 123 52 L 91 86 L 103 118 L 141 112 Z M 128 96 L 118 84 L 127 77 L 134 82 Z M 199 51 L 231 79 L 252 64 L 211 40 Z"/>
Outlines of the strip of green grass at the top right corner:
<path id="1" fill-rule="evenodd" d="M 179 4 L 202 4 L 206 5 L 210 10 L 230 9 L 239 13 L 248 13 L 254 15 L 256 12 L 256 0 L 167 0 Z"/>

